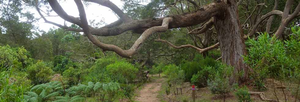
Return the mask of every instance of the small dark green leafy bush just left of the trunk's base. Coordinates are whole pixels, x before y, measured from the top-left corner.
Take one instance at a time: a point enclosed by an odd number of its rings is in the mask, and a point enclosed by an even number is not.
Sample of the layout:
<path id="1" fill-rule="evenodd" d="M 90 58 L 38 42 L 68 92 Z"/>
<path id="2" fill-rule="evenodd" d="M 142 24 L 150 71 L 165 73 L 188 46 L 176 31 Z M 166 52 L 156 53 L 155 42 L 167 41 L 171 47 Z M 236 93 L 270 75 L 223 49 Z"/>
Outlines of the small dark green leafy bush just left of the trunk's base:
<path id="1" fill-rule="evenodd" d="M 193 75 L 193 77 L 191 78 L 191 83 L 200 87 L 206 86 L 211 71 L 212 71 L 212 67 L 210 66 L 203 67 L 201 71 L 198 71 L 197 74 Z"/>

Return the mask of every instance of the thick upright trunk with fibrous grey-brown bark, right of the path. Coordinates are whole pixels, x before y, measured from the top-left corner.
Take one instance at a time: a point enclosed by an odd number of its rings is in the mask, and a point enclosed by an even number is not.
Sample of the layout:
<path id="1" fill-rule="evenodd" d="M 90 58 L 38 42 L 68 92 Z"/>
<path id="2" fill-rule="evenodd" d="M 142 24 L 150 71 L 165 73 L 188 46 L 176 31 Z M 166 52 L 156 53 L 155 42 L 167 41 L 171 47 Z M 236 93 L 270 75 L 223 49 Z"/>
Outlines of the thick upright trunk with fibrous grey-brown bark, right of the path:
<path id="1" fill-rule="evenodd" d="M 225 0 L 226 1 L 226 0 Z M 243 63 L 242 55 L 246 55 L 246 45 L 243 31 L 238 19 L 238 9 L 235 0 L 227 0 L 227 11 L 224 16 L 215 17 L 214 25 L 218 33 L 222 61 L 235 67 L 234 73 L 244 72 L 244 76 L 237 79 L 242 83 L 248 79 L 249 66 Z"/>

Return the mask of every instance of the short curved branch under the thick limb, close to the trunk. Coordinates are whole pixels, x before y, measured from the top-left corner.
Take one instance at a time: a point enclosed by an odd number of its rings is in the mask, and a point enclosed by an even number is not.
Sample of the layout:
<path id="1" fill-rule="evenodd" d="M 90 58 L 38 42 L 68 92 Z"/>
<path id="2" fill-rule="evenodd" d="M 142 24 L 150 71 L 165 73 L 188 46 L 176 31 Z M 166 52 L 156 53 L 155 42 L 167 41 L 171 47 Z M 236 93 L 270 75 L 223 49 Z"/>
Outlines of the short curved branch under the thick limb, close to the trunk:
<path id="1" fill-rule="evenodd" d="M 205 23 L 203 26 L 201 26 L 200 28 L 196 28 L 192 31 L 190 31 L 188 34 L 201 34 L 204 33 L 206 30 L 208 30 L 211 26 L 213 25 L 213 18 L 210 19 L 207 23 Z M 199 30 L 200 29 L 200 30 Z"/>

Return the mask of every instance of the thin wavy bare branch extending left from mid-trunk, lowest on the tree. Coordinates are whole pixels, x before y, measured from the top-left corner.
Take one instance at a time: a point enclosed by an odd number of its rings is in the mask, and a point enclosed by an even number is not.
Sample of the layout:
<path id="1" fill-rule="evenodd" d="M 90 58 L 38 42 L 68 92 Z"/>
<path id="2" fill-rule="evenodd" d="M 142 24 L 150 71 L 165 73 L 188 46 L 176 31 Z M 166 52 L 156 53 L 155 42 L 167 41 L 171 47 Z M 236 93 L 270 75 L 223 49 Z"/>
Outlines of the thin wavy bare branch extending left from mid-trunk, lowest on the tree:
<path id="1" fill-rule="evenodd" d="M 209 50 L 212 50 L 214 48 L 217 48 L 219 47 L 219 43 L 215 44 L 215 45 L 212 45 L 210 47 L 206 47 L 204 49 L 201 49 L 201 48 L 198 48 L 198 47 L 195 47 L 193 45 L 190 45 L 190 44 L 187 44 L 187 45 L 181 45 L 181 46 L 175 46 L 174 44 L 172 44 L 171 42 L 167 41 L 167 40 L 160 40 L 160 39 L 156 39 L 154 41 L 159 41 L 159 42 L 163 42 L 163 43 L 167 43 L 168 45 L 170 45 L 171 47 L 175 48 L 175 49 L 182 49 L 182 48 L 186 48 L 186 47 L 190 47 L 190 48 L 193 48 L 197 51 L 199 51 L 200 53 L 203 53 L 204 51 L 209 51 Z"/>

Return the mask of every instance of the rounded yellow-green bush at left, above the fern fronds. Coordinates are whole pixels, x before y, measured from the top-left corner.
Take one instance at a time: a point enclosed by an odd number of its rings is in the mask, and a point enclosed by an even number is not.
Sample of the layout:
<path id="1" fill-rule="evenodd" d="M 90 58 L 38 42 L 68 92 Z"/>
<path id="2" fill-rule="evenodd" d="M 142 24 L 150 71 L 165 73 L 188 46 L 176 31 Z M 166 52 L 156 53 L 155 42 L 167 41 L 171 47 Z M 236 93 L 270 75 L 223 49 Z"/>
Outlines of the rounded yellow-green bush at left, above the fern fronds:
<path id="1" fill-rule="evenodd" d="M 32 80 L 33 84 L 47 83 L 50 81 L 53 71 L 47 67 L 43 61 L 38 61 L 27 68 L 28 79 Z"/>

